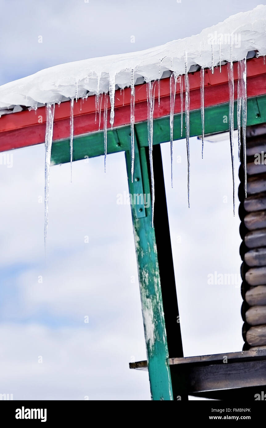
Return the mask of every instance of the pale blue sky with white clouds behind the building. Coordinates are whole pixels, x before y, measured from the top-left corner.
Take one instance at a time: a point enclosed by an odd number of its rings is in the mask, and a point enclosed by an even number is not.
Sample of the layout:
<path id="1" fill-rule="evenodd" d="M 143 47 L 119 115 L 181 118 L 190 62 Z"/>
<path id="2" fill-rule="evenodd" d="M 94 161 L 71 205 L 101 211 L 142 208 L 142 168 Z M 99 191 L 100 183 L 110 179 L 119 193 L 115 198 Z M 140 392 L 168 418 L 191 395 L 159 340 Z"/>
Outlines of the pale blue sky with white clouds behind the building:
<path id="1" fill-rule="evenodd" d="M 257 2 L 2 0 L 0 6 L 3 84 L 59 63 L 190 36 Z M 162 145 L 184 353 L 240 351 L 240 282 L 207 282 L 215 271 L 238 274 L 241 264 L 230 144 L 206 142 L 203 160 L 197 138 L 190 149 L 188 209 L 185 142 L 173 145 L 173 189 L 170 147 Z M 44 155 L 43 145 L 19 149 L 12 168 L 0 165 L 0 393 L 149 400 L 147 373 L 129 370 L 146 351 L 131 212 L 117 205 L 117 194 L 128 191 L 124 155 L 109 155 L 106 173 L 102 157 L 75 162 L 72 183 L 69 164 L 52 167 L 46 265 Z M 236 177 L 238 167 L 236 150 Z"/>

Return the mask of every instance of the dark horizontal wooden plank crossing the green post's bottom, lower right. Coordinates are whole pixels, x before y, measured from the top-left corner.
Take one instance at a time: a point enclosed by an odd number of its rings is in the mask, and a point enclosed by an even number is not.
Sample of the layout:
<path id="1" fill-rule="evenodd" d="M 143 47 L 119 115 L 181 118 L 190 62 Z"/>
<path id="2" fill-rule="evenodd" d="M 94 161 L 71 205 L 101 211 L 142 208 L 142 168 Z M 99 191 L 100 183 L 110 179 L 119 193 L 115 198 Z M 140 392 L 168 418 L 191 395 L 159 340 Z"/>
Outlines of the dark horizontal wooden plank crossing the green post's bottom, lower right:
<path id="1" fill-rule="evenodd" d="M 130 368 L 145 367 L 145 363 L 145 361 L 130 363 Z M 266 349 L 264 348 L 197 357 L 169 358 L 167 363 L 173 368 L 173 379 L 176 378 L 179 383 L 180 394 L 266 385 Z"/>

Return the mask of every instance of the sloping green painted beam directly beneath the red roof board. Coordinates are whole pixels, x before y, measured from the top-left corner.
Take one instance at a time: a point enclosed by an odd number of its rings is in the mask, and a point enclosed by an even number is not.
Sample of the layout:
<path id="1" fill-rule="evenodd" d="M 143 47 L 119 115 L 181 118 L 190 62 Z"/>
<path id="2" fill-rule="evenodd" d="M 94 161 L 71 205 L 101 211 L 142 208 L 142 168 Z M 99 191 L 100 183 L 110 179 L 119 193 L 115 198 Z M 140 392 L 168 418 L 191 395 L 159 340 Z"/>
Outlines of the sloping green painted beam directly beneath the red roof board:
<path id="1" fill-rule="evenodd" d="M 228 104 L 221 104 L 205 108 L 205 134 L 215 134 L 229 131 Z M 236 128 L 236 102 L 234 109 L 234 124 Z M 183 114 L 183 135 L 180 131 L 180 114 L 174 116 L 173 138 L 180 140 L 185 137 L 185 114 Z M 266 95 L 248 99 L 247 126 L 266 122 Z M 130 126 L 124 126 L 109 130 L 107 133 L 107 151 L 115 153 L 130 150 L 130 141 L 120 142 L 117 132 L 124 129 L 130 133 Z M 139 136 L 140 147 L 148 145 L 147 122 L 135 124 L 135 130 Z M 170 140 L 169 116 L 153 121 L 153 144 L 166 143 Z M 190 112 L 190 137 L 201 135 L 200 110 Z M 104 154 L 103 132 L 98 131 L 78 137 L 73 141 L 73 160 L 94 158 Z M 55 141 L 52 144 L 51 161 L 53 164 L 66 163 L 70 161 L 69 139 Z"/>

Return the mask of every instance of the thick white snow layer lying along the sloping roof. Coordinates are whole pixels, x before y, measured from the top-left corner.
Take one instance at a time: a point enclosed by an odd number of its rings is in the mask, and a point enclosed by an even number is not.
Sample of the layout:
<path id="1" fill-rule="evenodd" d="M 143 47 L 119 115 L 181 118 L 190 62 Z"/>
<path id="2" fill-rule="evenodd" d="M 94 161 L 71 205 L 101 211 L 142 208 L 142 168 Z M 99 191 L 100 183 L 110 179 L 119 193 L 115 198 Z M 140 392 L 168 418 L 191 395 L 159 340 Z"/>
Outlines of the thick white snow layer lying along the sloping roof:
<path id="1" fill-rule="evenodd" d="M 174 40 L 145 51 L 84 59 L 45 68 L 31 76 L 0 86 L 0 113 L 37 108 L 75 97 L 110 92 L 141 81 L 160 79 L 165 71 L 185 73 L 192 65 L 213 67 L 237 61 L 248 51 L 266 55 L 266 6 L 230 16 L 197 36 Z M 134 70 L 134 73 L 132 72 Z M 9 110 L 7 110 L 9 109 Z"/>

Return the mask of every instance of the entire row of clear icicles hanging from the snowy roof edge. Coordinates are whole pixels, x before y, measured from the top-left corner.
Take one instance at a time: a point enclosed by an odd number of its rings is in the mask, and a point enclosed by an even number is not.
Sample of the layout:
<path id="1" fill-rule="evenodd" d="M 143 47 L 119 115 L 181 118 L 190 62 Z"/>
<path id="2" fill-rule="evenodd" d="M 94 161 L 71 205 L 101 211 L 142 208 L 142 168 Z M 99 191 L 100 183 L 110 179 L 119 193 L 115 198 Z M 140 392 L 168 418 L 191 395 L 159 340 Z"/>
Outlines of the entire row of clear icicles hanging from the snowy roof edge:
<path id="1" fill-rule="evenodd" d="M 217 66 L 216 66 L 217 68 Z M 213 55 L 212 55 L 212 73 L 214 72 Z M 159 74 L 161 71 L 161 62 L 159 66 Z M 233 77 L 233 62 L 232 59 L 227 63 L 228 82 L 229 82 L 229 133 L 230 133 L 230 148 L 233 172 L 233 212 L 235 214 L 235 177 L 234 177 L 234 141 L 233 141 L 233 112 L 234 112 L 234 77 Z M 221 72 L 221 62 L 220 62 Z M 238 130 L 238 148 L 240 158 L 240 144 L 241 144 L 241 113 L 242 113 L 242 141 L 244 153 L 244 172 L 245 172 L 245 196 L 247 196 L 247 181 L 246 181 L 246 121 L 247 121 L 247 86 L 246 86 L 246 59 L 238 62 L 238 85 L 237 85 L 237 130 Z M 179 77 L 179 78 L 178 78 Z M 97 78 L 97 95 L 96 100 L 96 116 L 99 114 L 99 129 L 101 125 L 101 110 L 102 101 L 103 108 L 103 132 L 104 132 L 104 147 L 105 147 L 105 166 L 107 156 L 107 110 L 108 110 L 108 94 L 99 94 L 99 83 L 101 75 Z M 174 106 L 176 101 L 176 83 L 180 84 L 180 117 L 181 117 L 181 137 L 183 128 L 183 78 L 182 75 L 178 76 L 172 73 L 170 76 L 170 152 L 171 152 L 171 183 L 173 187 L 173 116 Z M 152 187 L 152 227 L 153 227 L 153 214 L 154 214 L 154 177 L 153 177 L 153 163 L 152 163 L 152 138 L 153 138 L 153 112 L 155 101 L 155 86 L 158 85 L 158 106 L 160 106 L 160 80 L 148 82 L 146 85 L 147 90 L 147 125 L 148 125 L 148 142 L 149 142 L 149 162 L 150 162 L 150 175 Z M 122 89 L 120 89 L 122 91 Z M 111 103 L 110 123 L 113 129 L 114 124 L 114 94 L 115 94 L 115 76 L 110 78 L 109 83 L 109 98 Z M 85 97 L 84 97 L 85 98 Z M 78 101 L 78 84 L 75 86 L 75 100 Z M 200 111 L 202 121 L 202 158 L 203 158 L 203 144 L 204 144 L 204 68 L 200 69 Z M 131 148 L 132 148 L 132 165 L 131 175 L 133 182 L 134 172 L 134 104 L 135 104 L 135 88 L 134 88 L 134 70 L 131 71 L 131 102 L 130 102 L 130 126 L 131 126 Z M 189 161 L 189 79 L 188 79 L 188 55 L 185 53 L 185 138 L 187 147 L 188 159 L 188 207 L 189 207 L 189 181 L 190 181 L 190 161 Z M 72 180 L 72 159 L 73 159 L 73 134 L 74 134 L 74 121 L 73 121 L 73 107 L 74 98 L 70 103 L 70 165 L 71 165 L 71 180 Z M 46 105 L 46 132 L 45 132 L 45 254 L 46 254 L 46 236 L 48 226 L 48 196 L 49 196 L 49 178 L 50 178 L 50 163 L 51 163 L 51 146 L 53 140 L 53 125 L 54 125 L 54 109 L 55 104 Z"/>

